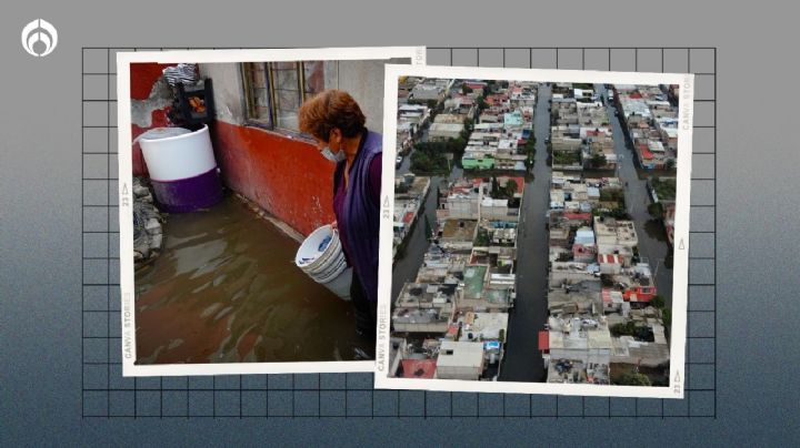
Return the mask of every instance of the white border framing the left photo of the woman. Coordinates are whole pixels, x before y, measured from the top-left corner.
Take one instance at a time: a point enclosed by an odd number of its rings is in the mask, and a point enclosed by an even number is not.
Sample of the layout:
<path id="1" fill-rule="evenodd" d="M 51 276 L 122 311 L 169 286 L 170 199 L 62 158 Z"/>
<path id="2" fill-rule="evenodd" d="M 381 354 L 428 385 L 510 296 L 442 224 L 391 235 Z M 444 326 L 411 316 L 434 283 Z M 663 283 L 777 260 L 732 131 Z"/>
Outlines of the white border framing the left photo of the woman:
<path id="1" fill-rule="evenodd" d="M 298 362 L 298 363 L 208 363 L 136 365 L 136 294 L 133 266 L 133 196 L 130 64 L 156 63 L 236 63 L 251 61 L 357 61 L 409 58 L 412 64 L 424 64 L 424 47 L 358 47 L 253 50 L 180 50 L 117 53 L 117 116 L 119 147 L 119 226 L 122 376 L 202 376 L 248 374 L 309 374 L 373 371 L 374 362 Z M 388 65 L 388 64 L 387 64 Z"/>

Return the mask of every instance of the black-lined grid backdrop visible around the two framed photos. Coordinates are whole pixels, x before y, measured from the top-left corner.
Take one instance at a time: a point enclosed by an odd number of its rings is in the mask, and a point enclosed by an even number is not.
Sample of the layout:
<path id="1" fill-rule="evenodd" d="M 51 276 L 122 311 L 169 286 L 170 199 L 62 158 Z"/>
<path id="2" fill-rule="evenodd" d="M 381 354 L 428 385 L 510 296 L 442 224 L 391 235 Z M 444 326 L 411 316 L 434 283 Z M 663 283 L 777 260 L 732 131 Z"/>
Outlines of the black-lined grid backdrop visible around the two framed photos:
<path id="1" fill-rule="evenodd" d="M 429 48 L 431 65 L 696 73 L 686 399 L 374 390 L 372 374 L 123 378 L 116 52 L 83 48 L 82 417 L 717 418 L 716 48 Z"/>

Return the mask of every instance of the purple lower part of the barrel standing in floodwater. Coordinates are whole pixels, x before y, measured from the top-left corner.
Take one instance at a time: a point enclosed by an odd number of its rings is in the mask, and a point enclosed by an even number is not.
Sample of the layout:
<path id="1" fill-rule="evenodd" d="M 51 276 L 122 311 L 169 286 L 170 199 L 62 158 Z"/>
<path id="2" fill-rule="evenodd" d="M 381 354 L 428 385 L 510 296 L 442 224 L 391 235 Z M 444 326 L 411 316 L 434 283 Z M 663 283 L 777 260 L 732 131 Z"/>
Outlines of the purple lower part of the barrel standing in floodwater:
<path id="1" fill-rule="evenodd" d="M 194 177 L 150 182 L 159 210 L 168 213 L 194 212 L 222 201 L 222 183 L 217 167 Z"/>

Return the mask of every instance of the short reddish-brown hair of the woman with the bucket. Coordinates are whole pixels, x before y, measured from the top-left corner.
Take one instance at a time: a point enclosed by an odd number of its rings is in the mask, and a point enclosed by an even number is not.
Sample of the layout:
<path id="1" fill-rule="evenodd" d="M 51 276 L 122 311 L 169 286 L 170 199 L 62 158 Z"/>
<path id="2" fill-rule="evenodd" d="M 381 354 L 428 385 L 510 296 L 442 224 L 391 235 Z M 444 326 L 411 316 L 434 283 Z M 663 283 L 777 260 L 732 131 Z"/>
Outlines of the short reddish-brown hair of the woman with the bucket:
<path id="1" fill-rule="evenodd" d="M 348 92 L 326 90 L 306 101 L 298 111 L 300 132 L 327 142 L 333 129 L 343 136 L 352 138 L 364 129 L 367 118 Z"/>

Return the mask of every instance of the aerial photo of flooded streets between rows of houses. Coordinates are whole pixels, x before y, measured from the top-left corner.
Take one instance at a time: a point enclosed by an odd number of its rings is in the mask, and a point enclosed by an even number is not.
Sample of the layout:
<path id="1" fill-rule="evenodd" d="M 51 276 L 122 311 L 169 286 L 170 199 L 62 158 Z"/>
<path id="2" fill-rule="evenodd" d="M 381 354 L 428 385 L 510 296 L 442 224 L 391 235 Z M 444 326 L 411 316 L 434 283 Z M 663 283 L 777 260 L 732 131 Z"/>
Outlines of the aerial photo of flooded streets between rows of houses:
<path id="1" fill-rule="evenodd" d="M 401 77 L 388 377 L 668 386 L 678 89 Z"/>

